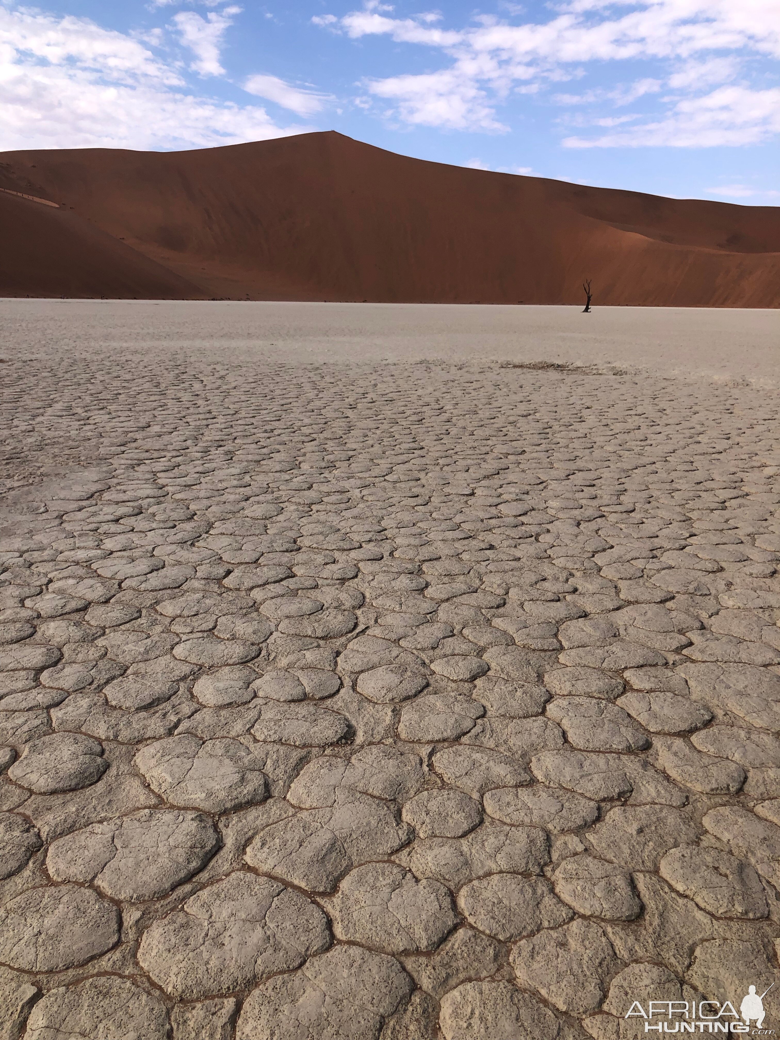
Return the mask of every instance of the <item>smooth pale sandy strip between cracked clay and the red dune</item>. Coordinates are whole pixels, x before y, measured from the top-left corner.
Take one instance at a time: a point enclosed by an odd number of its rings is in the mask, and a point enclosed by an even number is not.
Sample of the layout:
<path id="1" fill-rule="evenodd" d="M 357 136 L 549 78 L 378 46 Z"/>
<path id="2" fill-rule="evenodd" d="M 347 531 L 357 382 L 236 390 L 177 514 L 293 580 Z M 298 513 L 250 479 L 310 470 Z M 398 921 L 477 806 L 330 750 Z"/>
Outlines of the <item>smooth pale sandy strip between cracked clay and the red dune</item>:
<path id="1" fill-rule="evenodd" d="M 295 362 L 551 362 L 776 386 L 780 311 L 0 301 L 6 356 L 184 348 Z"/>

